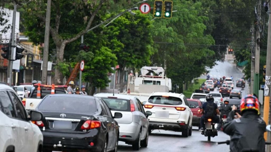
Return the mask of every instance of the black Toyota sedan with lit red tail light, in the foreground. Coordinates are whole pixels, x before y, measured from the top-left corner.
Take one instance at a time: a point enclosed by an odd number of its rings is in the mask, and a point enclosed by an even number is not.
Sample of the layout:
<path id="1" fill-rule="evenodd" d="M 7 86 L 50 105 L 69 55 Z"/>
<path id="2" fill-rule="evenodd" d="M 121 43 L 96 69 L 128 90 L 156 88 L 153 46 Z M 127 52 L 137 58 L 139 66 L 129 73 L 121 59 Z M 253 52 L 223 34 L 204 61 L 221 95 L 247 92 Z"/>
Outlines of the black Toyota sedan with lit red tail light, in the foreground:
<path id="1" fill-rule="evenodd" d="M 119 126 L 101 98 L 53 94 L 43 98 L 36 111 L 42 121 L 33 122 L 43 134 L 43 152 L 117 151 Z"/>

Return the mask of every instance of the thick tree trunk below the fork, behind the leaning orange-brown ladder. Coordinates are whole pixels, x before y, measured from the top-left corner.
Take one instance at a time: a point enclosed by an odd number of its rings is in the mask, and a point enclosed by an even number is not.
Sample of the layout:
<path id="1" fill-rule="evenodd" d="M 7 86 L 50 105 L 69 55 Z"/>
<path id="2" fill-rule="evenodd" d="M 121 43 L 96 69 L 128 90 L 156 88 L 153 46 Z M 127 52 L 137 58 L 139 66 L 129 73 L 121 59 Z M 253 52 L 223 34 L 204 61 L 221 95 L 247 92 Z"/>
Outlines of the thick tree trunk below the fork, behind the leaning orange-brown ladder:
<path id="1" fill-rule="evenodd" d="M 56 65 L 63 62 L 64 58 L 64 49 L 65 49 L 66 43 L 61 43 L 60 46 L 56 46 Z M 63 74 L 62 71 L 60 71 L 59 66 L 56 68 L 56 72 L 54 75 L 54 84 L 55 85 L 63 85 Z"/>

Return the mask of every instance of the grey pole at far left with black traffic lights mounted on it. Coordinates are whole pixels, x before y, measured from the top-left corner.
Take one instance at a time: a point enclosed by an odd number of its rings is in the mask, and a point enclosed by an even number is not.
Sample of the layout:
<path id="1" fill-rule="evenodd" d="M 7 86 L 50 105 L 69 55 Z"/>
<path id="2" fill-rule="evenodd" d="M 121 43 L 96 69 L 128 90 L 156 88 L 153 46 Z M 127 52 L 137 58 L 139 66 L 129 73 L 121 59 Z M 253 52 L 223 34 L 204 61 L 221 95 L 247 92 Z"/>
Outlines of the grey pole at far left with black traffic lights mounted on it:
<path id="1" fill-rule="evenodd" d="M 16 25 L 16 11 L 17 11 L 17 5 L 14 2 L 14 9 L 13 9 L 13 18 L 12 18 L 12 33 L 11 33 L 11 47 L 10 47 L 10 53 L 9 53 L 9 62 L 8 62 L 8 78 L 7 78 L 7 83 L 9 83 L 9 86 L 12 85 L 12 65 L 13 61 L 15 59 L 14 56 L 14 50 L 16 49 L 15 44 L 14 44 L 14 39 L 15 39 L 15 25 Z"/>

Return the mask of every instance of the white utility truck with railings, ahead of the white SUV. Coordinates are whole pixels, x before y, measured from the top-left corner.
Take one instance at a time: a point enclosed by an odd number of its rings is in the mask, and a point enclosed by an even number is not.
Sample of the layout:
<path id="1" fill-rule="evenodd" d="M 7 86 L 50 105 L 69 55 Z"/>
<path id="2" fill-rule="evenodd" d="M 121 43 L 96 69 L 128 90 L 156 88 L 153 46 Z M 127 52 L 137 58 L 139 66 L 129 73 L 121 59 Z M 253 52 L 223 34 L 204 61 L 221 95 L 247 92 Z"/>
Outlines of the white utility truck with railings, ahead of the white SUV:
<path id="1" fill-rule="evenodd" d="M 170 92 L 172 91 L 171 79 L 165 75 L 162 67 L 142 67 L 139 77 L 128 76 L 127 92 L 136 96 L 141 103 L 147 101 L 152 92 Z"/>

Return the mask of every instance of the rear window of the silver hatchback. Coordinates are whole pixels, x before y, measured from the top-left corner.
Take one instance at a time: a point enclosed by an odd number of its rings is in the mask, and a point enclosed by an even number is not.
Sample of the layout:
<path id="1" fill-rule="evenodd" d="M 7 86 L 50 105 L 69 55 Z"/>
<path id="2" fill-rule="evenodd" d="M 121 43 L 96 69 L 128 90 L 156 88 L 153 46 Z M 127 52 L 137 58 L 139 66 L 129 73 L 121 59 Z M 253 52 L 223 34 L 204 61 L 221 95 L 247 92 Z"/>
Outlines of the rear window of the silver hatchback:
<path id="1" fill-rule="evenodd" d="M 130 111 L 130 100 L 118 98 L 102 98 L 110 108 L 115 111 Z"/>

